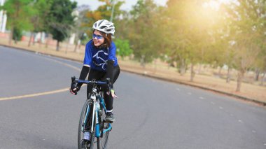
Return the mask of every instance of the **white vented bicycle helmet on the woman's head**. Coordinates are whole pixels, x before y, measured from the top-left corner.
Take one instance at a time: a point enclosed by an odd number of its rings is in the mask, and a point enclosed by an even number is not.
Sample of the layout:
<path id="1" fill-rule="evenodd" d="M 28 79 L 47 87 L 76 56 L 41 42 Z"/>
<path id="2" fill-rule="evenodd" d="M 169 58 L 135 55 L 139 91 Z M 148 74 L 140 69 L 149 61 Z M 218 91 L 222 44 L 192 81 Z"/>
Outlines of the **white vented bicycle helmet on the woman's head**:
<path id="1" fill-rule="evenodd" d="M 97 22 L 94 22 L 92 28 L 106 34 L 115 34 L 115 27 L 113 26 L 113 23 L 108 20 L 97 20 Z"/>

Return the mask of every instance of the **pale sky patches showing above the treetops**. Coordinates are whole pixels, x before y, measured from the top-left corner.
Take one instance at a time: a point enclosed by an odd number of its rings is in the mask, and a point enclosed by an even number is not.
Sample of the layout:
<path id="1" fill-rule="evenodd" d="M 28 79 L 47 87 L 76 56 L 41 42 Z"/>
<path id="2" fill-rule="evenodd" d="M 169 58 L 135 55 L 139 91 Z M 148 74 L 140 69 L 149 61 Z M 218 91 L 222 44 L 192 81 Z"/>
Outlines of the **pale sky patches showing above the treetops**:
<path id="1" fill-rule="evenodd" d="M 71 1 L 78 2 L 78 6 L 83 4 L 89 5 L 92 10 L 97 9 L 98 6 L 102 4 L 97 0 L 71 0 Z M 121 9 L 123 10 L 130 10 L 132 6 L 137 3 L 137 0 L 124 0 L 124 1 L 125 3 L 123 4 L 123 6 L 121 6 Z M 155 3 L 157 3 L 158 5 L 162 6 L 165 6 L 165 3 L 167 2 L 167 0 L 153 0 L 153 1 L 155 1 Z"/>

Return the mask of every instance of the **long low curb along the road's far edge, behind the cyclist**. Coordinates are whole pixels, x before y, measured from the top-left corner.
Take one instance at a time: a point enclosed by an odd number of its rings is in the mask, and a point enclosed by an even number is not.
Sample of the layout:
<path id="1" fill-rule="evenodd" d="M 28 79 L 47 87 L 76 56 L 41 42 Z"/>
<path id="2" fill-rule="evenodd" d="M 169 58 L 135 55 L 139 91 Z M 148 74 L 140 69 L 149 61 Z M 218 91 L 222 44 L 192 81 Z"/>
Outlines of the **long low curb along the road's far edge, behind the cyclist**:
<path id="1" fill-rule="evenodd" d="M 28 51 L 28 52 L 40 53 L 41 55 L 50 55 L 52 57 L 59 57 L 59 58 L 62 58 L 62 59 L 69 59 L 69 60 L 75 61 L 75 62 L 82 62 L 81 60 L 78 60 L 78 59 L 71 59 L 69 57 L 62 57 L 62 56 L 59 56 L 59 55 L 52 55 L 52 54 L 48 54 L 48 53 L 45 53 L 45 52 L 36 52 L 34 50 L 29 50 L 27 48 L 18 48 L 18 47 L 12 46 L 12 45 L 3 45 L 1 43 L 0 43 L 0 45 L 1 46 L 4 46 L 4 47 L 8 47 L 8 48 L 15 48 L 15 49 L 18 49 L 18 50 L 25 50 L 25 51 Z M 230 97 L 235 97 L 237 99 L 242 99 L 244 101 L 251 101 L 251 102 L 253 102 L 255 104 L 259 104 L 260 106 L 266 106 L 266 102 L 264 102 L 264 101 L 258 101 L 256 99 L 251 99 L 251 98 L 248 98 L 248 97 L 242 97 L 242 96 L 239 96 L 237 94 L 231 94 L 231 93 L 228 93 L 228 92 L 223 92 L 221 90 L 214 90 L 214 89 L 211 89 L 209 87 L 202 87 L 202 86 L 199 86 L 199 85 L 192 85 L 190 83 L 184 83 L 184 82 L 179 81 L 179 80 L 174 80 L 174 79 L 170 79 L 170 78 L 162 78 L 160 76 L 153 76 L 153 75 L 148 74 L 148 73 L 139 73 L 139 72 L 130 71 L 130 70 L 127 70 L 127 69 L 121 69 L 121 70 L 122 71 L 125 71 L 125 72 L 129 72 L 129 73 L 134 73 L 134 74 L 137 74 L 137 75 L 141 75 L 141 76 L 147 76 L 147 77 L 156 78 L 156 79 L 159 79 L 159 80 L 166 80 L 166 81 L 169 81 L 171 83 L 179 83 L 179 84 L 182 84 L 182 85 L 188 85 L 188 86 L 191 86 L 191 87 L 197 87 L 197 88 L 200 88 L 202 90 L 209 90 L 209 91 L 212 91 L 212 92 L 217 92 L 217 93 L 220 93 L 220 94 L 225 94 L 225 95 L 228 95 Z"/>

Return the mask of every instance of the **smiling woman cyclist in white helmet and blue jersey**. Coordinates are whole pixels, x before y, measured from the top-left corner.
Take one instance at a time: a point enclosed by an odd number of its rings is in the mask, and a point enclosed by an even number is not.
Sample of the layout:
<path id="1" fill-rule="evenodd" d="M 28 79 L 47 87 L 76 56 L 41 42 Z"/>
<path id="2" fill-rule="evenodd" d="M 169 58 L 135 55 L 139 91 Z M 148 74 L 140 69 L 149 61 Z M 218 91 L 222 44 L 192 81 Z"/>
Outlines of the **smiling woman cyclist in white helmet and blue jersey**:
<path id="1" fill-rule="evenodd" d="M 80 80 L 105 80 L 110 78 L 111 94 L 109 87 L 102 87 L 104 90 L 104 101 L 106 104 L 106 121 L 113 122 L 113 98 L 116 97 L 113 90 L 113 83 L 119 76 L 120 68 L 116 57 L 116 45 L 111 36 L 115 33 L 115 27 L 108 20 L 98 20 L 94 22 L 92 40 L 85 47 L 85 57 L 83 68 L 80 72 Z M 82 83 L 70 88 L 72 94 L 80 90 Z M 90 85 L 87 85 L 87 92 L 90 91 Z M 87 97 L 88 98 L 88 97 Z"/>

